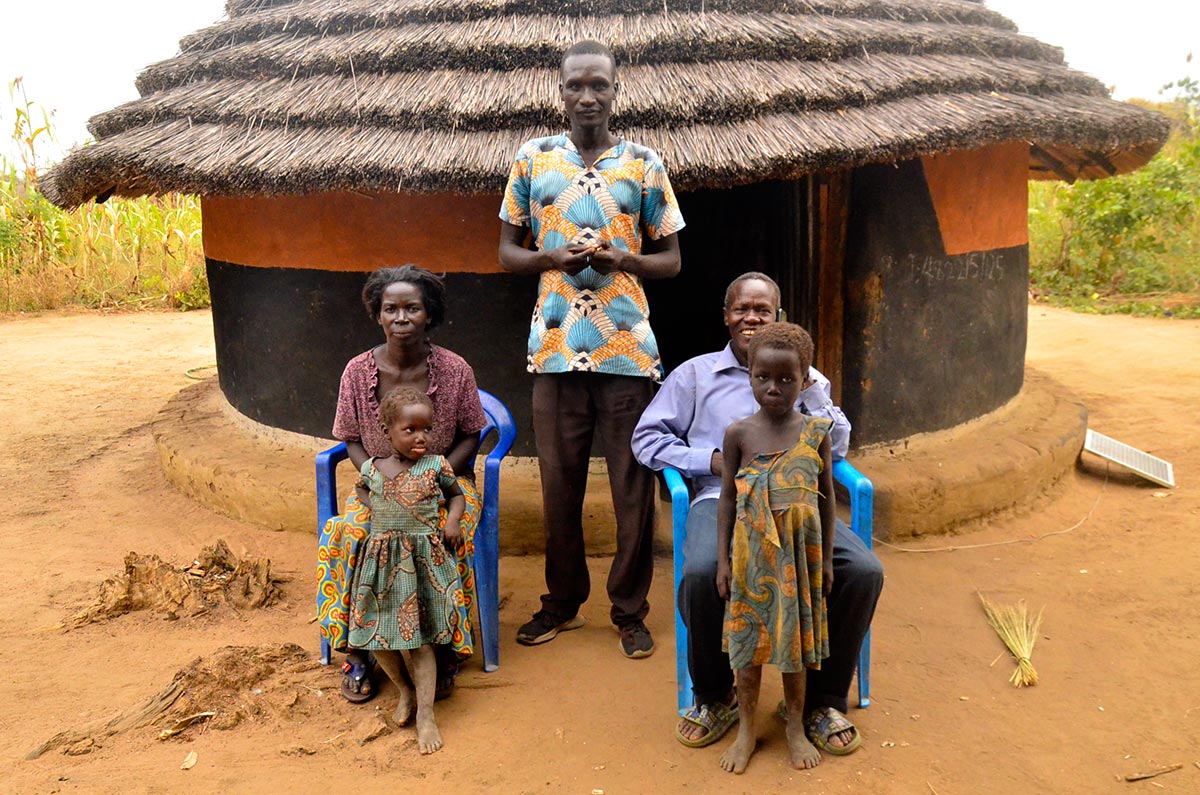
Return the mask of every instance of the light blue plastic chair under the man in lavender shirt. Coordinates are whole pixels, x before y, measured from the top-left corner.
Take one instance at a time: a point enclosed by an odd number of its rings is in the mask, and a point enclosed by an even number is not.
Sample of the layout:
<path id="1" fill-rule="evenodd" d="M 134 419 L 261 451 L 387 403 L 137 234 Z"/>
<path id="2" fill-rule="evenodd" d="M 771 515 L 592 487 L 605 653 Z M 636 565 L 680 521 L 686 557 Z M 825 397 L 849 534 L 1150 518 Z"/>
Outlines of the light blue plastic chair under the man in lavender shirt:
<path id="1" fill-rule="evenodd" d="M 671 491 L 671 525 L 673 530 L 676 593 L 683 580 L 683 539 L 688 534 L 688 510 L 691 508 L 691 495 L 688 483 L 678 470 L 667 467 L 662 471 L 667 489 Z M 834 461 L 833 477 L 850 492 L 850 530 L 871 548 L 871 518 L 875 513 L 875 488 L 871 482 L 856 470 L 850 461 Z M 688 627 L 676 603 L 676 691 L 679 713 L 691 707 L 691 674 L 688 671 Z M 863 638 L 863 648 L 858 652 L 858 706 L 871 705 L 871 630 Z"/>

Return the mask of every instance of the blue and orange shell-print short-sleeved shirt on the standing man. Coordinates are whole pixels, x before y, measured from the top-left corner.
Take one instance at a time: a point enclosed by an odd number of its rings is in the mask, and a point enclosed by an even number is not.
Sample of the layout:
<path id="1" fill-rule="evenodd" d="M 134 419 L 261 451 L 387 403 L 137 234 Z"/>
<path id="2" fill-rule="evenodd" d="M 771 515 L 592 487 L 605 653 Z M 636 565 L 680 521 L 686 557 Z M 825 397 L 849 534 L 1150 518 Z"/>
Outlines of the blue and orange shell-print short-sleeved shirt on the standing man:
<path id="1" fill-rule="evenodd" d="M 526 226 L 539 250 L 600 238 L 630 253 L 683 228 L 654 150 L 628 141 L 587 168 L 570 136 L 534 138 L 512 163 L 500 220 Z M 606 372 L 662 377 L 642 280 L 584 268 L 541 274 L 529 327 L 529 372 Z"/>

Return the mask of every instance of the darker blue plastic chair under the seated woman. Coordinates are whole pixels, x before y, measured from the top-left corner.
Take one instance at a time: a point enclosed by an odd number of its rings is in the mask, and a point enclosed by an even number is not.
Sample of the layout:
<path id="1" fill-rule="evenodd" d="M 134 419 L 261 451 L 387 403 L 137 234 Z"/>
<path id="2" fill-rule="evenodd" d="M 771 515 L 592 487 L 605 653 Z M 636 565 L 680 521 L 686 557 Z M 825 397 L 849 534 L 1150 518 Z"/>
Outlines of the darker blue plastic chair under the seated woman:
<path id="1" fill-rule="evenodd" d="M 487 425 L 479 432 L 479 443 L 493 431 L 496 446 L 484 461 L 484 509 L 475 530 L 475 593 L 479 599 L 479 634 L 484 646 L 484 670 L 500 667 L 500 460 L 512 449 L 517 426 L 512 412 L 496 395 L 479 390 Z M 325 543 L 325 522 L 338 513 L 337 464 L 349 458 L 346 444 L 335 444 L 317 454 L 317 537 L 318 546 Z M 472 461 L 474 465 L 474 461 Z M 320 662 L 329 665 L 329 641 L 320 639 Z"/>

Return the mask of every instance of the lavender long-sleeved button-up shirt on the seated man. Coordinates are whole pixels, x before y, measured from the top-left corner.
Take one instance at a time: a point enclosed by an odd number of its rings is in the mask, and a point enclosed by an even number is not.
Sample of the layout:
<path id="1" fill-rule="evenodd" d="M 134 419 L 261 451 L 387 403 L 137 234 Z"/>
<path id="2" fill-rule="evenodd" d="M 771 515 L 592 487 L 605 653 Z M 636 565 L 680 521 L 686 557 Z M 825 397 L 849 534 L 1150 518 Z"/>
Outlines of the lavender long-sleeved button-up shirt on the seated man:
<path id="1" fill-rule="evenodd" d="M 829 443 L 836 461 L 850 448 L 850 420 L 833 405 L 829 379 L 816 367 L 809 367 L 809 377 L 814 383 L 800 393 L 796 407 L 833 420 Z M 713 474 L 713 452 L 725 442 L 725 429 L 756 411 L 750 370 L 726 345 L 688 359 L 667 376 L 634 429 L 634 455 L 652 470 L 679 470 L 691 479 L 692 502 L 718 497 L 721 478 Z"/>

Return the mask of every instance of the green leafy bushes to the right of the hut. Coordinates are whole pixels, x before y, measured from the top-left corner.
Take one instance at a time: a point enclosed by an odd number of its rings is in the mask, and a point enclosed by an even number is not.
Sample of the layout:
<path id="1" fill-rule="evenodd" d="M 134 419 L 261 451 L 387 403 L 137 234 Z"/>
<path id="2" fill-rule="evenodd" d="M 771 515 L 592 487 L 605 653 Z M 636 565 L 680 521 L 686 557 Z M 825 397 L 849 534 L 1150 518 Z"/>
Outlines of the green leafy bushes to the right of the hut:
<path id="1" fill-rule="evenodd" d="M 1030 186 L 1034 294 L 1100 312 L 1200 316 L 1200 84 L 1168 86 L 1163 150 L 1132 174 Z"/>

